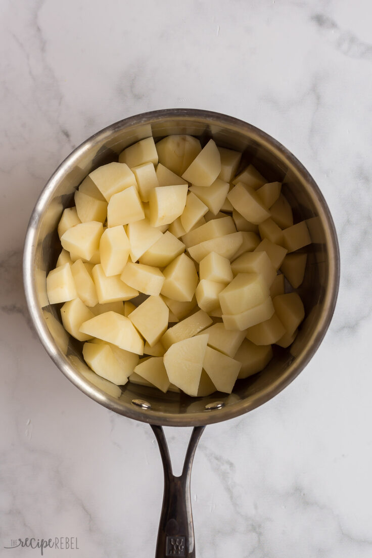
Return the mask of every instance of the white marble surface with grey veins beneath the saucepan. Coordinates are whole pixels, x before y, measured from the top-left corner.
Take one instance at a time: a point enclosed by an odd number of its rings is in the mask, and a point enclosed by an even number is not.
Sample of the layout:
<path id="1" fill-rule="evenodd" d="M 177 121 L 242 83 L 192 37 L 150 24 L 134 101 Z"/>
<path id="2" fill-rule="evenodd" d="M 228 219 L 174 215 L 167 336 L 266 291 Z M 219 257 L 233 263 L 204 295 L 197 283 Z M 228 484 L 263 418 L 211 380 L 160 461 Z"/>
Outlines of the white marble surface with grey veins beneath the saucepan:
<path id="1" fill-rule="evenodd" d="M 12 538 L 78 537 L 45 556 L 153 556 L 162 499 L 148 426 L 100 407 L 52 364 L 21 281 L 28 217 L 58 163 L 146 110 L 193 107 L 272 134 L 334 215 L 342 278 L 305 371 L 202 436 L 197 555 L 372 556 L 371 4 L 367 0 L 3 0 L 0 555 Z M 168 432 L 180 463 L 189 432 Z"/>

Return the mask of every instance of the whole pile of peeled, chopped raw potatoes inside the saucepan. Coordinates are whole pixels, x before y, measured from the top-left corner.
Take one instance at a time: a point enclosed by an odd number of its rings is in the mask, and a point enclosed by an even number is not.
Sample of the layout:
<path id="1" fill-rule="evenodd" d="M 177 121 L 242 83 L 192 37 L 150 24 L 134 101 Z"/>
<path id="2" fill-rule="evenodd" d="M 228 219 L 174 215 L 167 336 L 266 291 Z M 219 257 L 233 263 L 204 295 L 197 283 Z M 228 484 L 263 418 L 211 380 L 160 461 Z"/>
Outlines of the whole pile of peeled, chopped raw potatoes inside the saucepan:
<path id="1" fill-rule="evenodd" d="M 235 175 L 240 157 L 213 140 L 149 137 L 80 184 L 47 295 L 64 303 L 62 324 L 100 377 L 231 393 L 268 364 L 272 344 L 296 337 L 305 312 L 284 276 L 301 285 L 310 234 L 293 224 L 280 182 L 253 165 Z"/>

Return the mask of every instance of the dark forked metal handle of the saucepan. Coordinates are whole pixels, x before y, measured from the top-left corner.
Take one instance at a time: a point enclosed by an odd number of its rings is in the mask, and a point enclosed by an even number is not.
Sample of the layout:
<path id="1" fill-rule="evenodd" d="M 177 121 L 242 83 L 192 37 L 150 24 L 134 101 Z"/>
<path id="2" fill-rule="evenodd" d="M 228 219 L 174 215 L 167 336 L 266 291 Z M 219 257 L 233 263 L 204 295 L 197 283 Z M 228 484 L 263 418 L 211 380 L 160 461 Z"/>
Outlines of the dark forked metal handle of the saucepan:
<path id="1" fill-rule="evenodd" d="M 195 558 L 190 478 L 196 446 L 205 426 L 195 426 L 192 430 L 181 477 L 173 475 L 167 440 L 162 426 L 151 425 L 151 428 L 158 442 L 164 469 L 163 506 L 155 558 L 168 558 L 168 556 Z"/>

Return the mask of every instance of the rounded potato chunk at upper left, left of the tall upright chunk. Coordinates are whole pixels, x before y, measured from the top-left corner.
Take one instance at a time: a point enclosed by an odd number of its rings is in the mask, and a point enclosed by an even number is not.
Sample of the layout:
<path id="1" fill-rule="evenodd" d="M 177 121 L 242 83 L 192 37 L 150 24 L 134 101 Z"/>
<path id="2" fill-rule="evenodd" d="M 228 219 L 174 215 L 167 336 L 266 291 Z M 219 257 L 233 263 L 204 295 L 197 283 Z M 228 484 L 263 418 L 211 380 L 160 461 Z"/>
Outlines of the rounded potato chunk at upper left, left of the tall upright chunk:
<path id="1" fill-rule="evenodd" d="M 70 252 L 71 259 L 73 259 L 74 254 L 76 259 L 81 258 L 89 261 L 94 253 L 99 250 L 99 240 L 102 233 L 103 225 L 98 221 L 79 223 L 62 234 L 61 244 L 65 250 Z"/>

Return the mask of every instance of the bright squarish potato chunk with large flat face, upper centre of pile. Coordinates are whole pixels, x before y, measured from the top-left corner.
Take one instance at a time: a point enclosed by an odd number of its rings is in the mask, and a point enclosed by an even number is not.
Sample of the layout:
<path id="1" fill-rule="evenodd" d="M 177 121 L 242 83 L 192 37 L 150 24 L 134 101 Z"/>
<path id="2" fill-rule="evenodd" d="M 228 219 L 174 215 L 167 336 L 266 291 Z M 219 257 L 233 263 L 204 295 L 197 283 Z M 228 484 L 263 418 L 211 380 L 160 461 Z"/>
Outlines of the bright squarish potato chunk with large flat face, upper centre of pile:
<path id="1" fill-rule="evenodd" d="M 154 188 L 149 196 L 151 226 L 167 225 L 180 217 L 185 209 L 186 197 L 186 184 Z"/>

